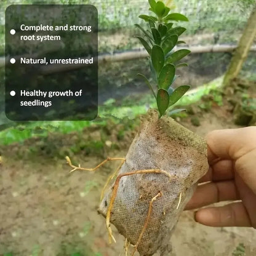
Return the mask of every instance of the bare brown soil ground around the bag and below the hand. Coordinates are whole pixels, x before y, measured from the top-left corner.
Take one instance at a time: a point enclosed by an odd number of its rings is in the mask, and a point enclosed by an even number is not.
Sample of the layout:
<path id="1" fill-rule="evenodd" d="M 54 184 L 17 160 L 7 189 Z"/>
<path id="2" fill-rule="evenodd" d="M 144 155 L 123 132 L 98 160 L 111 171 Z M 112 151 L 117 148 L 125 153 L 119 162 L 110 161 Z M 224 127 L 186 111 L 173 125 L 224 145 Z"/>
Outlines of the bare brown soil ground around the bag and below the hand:
<path id="1" fill-rule="evenodd" d="M 201 114 L 199 121 L 198 127 L 190 118 L 182 123 L 202 136 L 210 130 L 236 127 L 230 113 L 220 107 Z M 131 138 L 120 150 L 108 151 L 108 156 L 123 157 L 130 142 Z M 14 154 L 6 147 L 0 165 L 0 255 L 125 255 L 124 238 L 115 231 L 117 243 L 109 245 L 105 219 L 97 214 L 100 190 L 117 162 L 97 172 L 69 174 L 65 159 L 40 154 L 16 159 Z M 103 158 L 81 152 L 74 160 L 94 167 Z M 246 255 L 256 255 L 255 230 L 202 226 L 194 222 L 193 214 L 183 212 L 180 217 L 172 236 L 173 255 L 228 256 L 239 243 L 246 246 Z"/>

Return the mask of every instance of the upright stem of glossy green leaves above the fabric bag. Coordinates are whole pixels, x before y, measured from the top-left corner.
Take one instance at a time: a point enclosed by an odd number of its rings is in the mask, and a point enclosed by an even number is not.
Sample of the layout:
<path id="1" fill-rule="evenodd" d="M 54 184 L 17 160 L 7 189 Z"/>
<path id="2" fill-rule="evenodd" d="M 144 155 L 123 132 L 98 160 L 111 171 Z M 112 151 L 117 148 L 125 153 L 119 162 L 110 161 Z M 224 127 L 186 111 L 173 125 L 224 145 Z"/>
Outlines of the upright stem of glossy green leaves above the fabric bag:
<path id="1" fill-rule="evenodd" d="M 142 30 L 144 38 L 135 36 L 145 47 L 150 55 L 150 69 L 153 74 L 153 80 L 156 83 L 157 92 L 150 81 L 143 75 L 142 77 L 150 88 L 158 105 L 159 117 L 166 113 L 170 106 L 174 105 L 190 89 L 190 86 L 180 86 L 174 89 L 172 85 L 177 76 L 176 69 L 180 66 L 188 66 L 186 63 L 177 63 L 183 57 L 190 54 L 190 50 L 181 49 L 174 52 L 177 44 L 183 44 L 184 41 L 178 41 L 178 37 L 186 30 L 182 26 L 174 27 L 174 22 L 187 22 L 182 14 L 170 13 L 170 8 L 162 1 L 148 0 L 150 11 L 153 15 L 140 15 L 139 17 L 148 23 L 149 30 L 144 30 L 142 26 L 135 24 Z M 169 114 L 178 113 L 182 110 L 172 110 Z"/>

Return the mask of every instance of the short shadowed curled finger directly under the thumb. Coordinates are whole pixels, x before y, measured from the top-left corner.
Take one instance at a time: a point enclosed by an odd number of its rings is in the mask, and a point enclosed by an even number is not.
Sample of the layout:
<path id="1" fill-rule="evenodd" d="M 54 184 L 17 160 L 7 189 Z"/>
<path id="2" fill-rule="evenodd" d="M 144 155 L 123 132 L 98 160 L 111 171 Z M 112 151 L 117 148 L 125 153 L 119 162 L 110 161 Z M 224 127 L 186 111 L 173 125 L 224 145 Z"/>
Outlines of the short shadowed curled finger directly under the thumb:
<path id="1" fill-rule="evenodd" d="M 201 182 L 217 182 L 220 180 L 232 180 L 234 178 L 233 161 L 220 160 L 210 166 L 209 171 L 199 180 Z"/>

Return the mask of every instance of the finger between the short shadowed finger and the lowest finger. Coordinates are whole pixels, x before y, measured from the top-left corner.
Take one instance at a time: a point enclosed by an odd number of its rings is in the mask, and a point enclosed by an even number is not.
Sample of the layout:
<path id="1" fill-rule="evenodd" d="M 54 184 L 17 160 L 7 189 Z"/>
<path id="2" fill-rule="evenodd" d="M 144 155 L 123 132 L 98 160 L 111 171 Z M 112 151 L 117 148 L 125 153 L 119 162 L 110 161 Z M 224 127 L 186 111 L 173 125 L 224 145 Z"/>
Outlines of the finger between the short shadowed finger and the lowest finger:
<path id="1" fill-rule="evenodd" d="M 234 182 L 211 182 L 199 185 L 185 210 L 196 209 L 214 202 L 239 200 L 240 196 Z"/>

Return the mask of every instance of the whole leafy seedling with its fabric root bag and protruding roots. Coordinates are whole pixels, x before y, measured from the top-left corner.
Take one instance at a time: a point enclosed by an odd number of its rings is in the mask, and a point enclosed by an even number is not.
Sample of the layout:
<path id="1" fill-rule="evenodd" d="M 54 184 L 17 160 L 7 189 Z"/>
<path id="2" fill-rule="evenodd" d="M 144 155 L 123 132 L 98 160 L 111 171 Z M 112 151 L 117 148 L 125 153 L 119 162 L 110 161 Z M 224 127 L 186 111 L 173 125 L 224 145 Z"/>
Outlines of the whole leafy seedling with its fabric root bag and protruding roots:
<path id="1" fill-rule="evenodd" d="M 174 26 L 176 21 L 188 21 L 182 14 L 170 13 L 163 2 L 148 0 L 152 15 L 140 15 L 148 24 L 148 30 L 136 25 L 144 36 L 137 38 L 149 54 L 154 86 L 143 74 L 150 88 L 157 110 L 149 110 L 140 129 L 130 145 L 125 158 L 107 158 L 94 168 L 74 166 L 66 161 L 71 172 L 85 170 L 94 172 L 109 161 L 120 161 L 116 171 L 103 187 L 98 212 L 106 217 L 109 240 L 114 239 L 110 223 L 126 238 L 126 256 L 129 246 L 140 255 L 170 255 L 170 236 L 186 203 L 208 169 L 207 145 L 203 138 L 193 134 L 174 119 L 166 116 L 190 88 L 174 89 L 177 68 L 187 66 L 178 63 L 190 50 L 174 51 L 178 37 L 186 30 Z M 169 114 L 182 110 L 172 110 Z M 113 180 L 112 185 L 108 184 Z"/>

